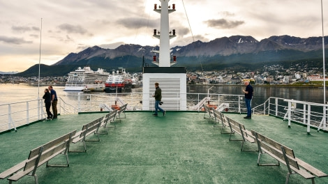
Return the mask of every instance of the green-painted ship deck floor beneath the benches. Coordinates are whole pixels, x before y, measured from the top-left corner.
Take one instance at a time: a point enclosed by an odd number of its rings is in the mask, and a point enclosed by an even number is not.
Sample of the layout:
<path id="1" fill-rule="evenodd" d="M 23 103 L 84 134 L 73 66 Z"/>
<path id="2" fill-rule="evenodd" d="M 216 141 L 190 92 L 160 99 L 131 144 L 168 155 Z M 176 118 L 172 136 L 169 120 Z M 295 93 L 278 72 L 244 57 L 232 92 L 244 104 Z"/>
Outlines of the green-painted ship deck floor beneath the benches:
<path id="1" fill-rule="evenodd" d="M 257 152 L 241 152 L 240 141 L 229 141 L 230 135 L 220 133 L 221 124 L 198 112 L 126 112 L 117 120 L 117 127 L 99 142 L 87 142 L 86 153 L 68 153 L 70 167 L 38 167 L 39 183 L 285 183 L 288 172 L 284 164 L 259 167 Z M 326 132 L 311 130 L 307 135 L 302 125 L 292 124 L 274 116 L 225 114 L 248 130 L 257 130 L 285 146 L 293 148 L 297 158 L 328 173 Z M 27 159 L 32 148 L 64 135 L 81 130 L 82 125 L 105 116 L 104 113 L 61 115 L 52 121 L 33 123 L 17 132 L 0 135 L 0 172 Z M 239 137 L 239 135 L 232 135 Z M 244 144 L 257 150 L 256 144 Z M 82 149 L 82 143 L 71 149 Z M 267 156 L 265 160 L 272 160 Z M 61 155 L 50 160 L 64 162 Z M 0 183 L 8 181 L 0 180 Z M 34 183 L 24 176 L 16 183 Z M 290 183 L 311 183 L 293 174 Z M 315 178 L 315 183 L 328 183 L 328 177 Z"/>

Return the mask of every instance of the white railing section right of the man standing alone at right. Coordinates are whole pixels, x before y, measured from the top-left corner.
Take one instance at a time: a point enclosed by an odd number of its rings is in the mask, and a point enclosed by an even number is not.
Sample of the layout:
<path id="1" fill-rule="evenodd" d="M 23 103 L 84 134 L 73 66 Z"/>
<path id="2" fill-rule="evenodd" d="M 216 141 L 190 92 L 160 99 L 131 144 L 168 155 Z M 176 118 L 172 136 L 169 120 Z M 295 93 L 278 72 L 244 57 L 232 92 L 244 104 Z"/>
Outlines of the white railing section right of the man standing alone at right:
<path id="1" fill-rule="evenodd" d="M 297 122 L 306 125 L 310 133 L 311 127 L 327 130 L 328 105 L 270 97 L 262 105 L 253 107 L 253 114 L 273 115 L 290 123 Z"/>

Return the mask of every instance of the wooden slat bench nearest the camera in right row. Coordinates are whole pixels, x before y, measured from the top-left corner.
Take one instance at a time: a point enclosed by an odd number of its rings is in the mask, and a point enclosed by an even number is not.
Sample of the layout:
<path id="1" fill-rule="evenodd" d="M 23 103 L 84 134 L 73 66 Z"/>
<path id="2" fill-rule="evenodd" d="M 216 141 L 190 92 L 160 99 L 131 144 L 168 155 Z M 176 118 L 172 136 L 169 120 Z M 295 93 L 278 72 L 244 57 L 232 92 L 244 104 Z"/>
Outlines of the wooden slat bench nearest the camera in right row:
<path id="1" fill-rule="evenodd" d="M 259 166 L 268 166 L 268 165 L 280 165 L 283 163 L 288 168 L 288 173 L 285 183 L 288 183 L 291 174 L 299 174 L 306 179 L 311 179 L 312 183 L 314 182 L 315 176 L 325 177 L 327 174 L 323 173 L 319 169 L 311 166 L 310 164 L 295 158 L 294 151 L 283 144 L 270 139 L 254 130 L 251 130 L 252 135 L 255 137 L 255 141 L 258 143 L 258 165 Z M 267 153 L 274 159 L 278 161 L 277 164 L 260 164 L 260 158 L 263 153 Z M 313 176 L 315 175 L 315 176 Z"/>

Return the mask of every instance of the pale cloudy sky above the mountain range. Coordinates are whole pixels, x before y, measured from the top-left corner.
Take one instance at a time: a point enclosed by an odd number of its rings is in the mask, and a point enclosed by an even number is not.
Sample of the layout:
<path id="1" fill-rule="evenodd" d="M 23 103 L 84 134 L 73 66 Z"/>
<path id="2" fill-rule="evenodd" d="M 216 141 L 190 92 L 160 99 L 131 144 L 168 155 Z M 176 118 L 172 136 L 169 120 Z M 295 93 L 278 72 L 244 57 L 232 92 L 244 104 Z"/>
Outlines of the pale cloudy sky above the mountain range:
<path id="1" fill-rule="evenodd" d="M 152 37 L 153 29 L 160 29 L 154 3 L 161 4 L 159 0 L 0 0 L 0 71 L 22 72 L 39 63 L 40 33 L 40 62 L 47 65 L 94 45 L 110 49 L 125 43 L 159 45 Z M 172 3 L 177 11 L 170 14 L 170 29 L 176 29 L 177 37 L 171 47 L 234 35 L 259 41 L 286 34 L 322 36 L 320 0 Z M 328 0 L 323 5 L 328 31 Z"/>

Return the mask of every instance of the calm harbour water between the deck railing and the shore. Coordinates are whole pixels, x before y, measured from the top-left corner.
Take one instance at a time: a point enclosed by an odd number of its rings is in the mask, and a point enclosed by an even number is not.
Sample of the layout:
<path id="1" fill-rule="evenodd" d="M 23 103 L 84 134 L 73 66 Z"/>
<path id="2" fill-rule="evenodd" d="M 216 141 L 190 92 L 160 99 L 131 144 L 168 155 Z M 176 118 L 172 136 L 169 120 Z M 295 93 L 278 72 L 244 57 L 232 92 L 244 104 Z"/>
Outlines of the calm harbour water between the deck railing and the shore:
<path id="1" fill-rule="evenodd" d="M 187 93 L 207 93 L 211 86 L 187 86 Z M 40 98 L 43 96 L 44 89 L 47 86 L 40 86 Z M 209 93 L 242 95 L 244 86 L 214 86 Z M 308 102 L 323 102 L 323 89 L 318 88 L 290 88 L 290 87 L 263 87 L 253 86 L 254 98 L 253 105 L 262 104 L 269 97 L 287 98 Z M 54 86 L 57 95 L 66 102 L 75 104 L 77 92 L 64 91 L 64 86 Z M 140 89 L 136 89 L 140 92 Z M 100 92 L 104 93 L 104 92 Z M 164 93 L 164 91 L 163 91 Z M 29 86 L 25 84 L 0 84 L 0 105 L 11 102 L 23 102 L 27 100 L 35 100 L 38 98 L 38 86 Z M 328 99 L 328 95 L 326 94 Z"/>

